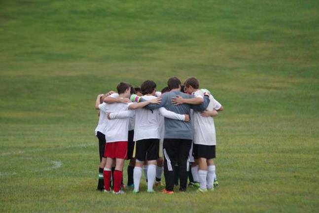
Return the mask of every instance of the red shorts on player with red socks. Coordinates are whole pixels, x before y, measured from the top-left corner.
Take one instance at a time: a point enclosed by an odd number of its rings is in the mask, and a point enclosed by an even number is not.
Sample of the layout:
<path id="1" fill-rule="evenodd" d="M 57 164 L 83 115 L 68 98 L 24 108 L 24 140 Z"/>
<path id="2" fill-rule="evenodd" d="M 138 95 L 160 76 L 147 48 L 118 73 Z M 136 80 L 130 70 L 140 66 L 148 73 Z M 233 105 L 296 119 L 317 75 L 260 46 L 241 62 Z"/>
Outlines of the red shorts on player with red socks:
<path id="1" fill-rule="evenodd" d="M 106 142 L 104 157 L 127 158 L 127 142 Z"/>

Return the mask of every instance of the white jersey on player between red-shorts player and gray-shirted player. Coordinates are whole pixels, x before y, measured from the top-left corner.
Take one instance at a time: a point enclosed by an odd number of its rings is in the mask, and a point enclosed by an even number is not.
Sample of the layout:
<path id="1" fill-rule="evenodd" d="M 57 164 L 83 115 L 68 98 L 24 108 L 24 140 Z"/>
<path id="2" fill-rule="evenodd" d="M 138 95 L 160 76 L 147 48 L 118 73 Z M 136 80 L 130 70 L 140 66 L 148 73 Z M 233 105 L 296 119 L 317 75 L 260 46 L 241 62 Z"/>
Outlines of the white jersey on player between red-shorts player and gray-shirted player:
<path id="1" fill-rule="evenodd" d="M 155 96 L 142 96 L 146 101 L 156 99 Z M 135 111 L 134 141 L 143 139 L 160 139 L 159 109 L 140 108 Z"/>

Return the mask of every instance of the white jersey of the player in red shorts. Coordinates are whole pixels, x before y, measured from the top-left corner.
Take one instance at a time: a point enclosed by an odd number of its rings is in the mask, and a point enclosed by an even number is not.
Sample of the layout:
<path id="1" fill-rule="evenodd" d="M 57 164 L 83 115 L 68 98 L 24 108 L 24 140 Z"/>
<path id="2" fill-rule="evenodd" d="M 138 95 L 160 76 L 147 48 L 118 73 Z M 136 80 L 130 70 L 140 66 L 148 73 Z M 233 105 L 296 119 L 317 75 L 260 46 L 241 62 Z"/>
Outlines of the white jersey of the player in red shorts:
<path id="1" fill-rule="evenodd" d="M 99 108 L 105 113 L 119 112 L 128 110 L 129 104 L 114 103 L 100 104 Z M 107 120 L 105 128 L 106 142 L 127 142 L 129 131 L 129 118 Z"/>

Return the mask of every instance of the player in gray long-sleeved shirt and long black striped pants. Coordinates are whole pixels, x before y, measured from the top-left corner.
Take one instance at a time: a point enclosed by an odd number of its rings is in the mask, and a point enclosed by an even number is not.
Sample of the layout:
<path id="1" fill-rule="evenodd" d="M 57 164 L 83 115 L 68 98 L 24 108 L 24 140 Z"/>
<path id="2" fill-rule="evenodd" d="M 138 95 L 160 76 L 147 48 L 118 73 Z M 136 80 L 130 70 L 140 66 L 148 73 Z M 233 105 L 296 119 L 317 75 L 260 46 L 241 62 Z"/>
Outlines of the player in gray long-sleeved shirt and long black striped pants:
<path id="1" fill-rule="evenodd" d="M 148 105 L 145 108 L 156 109 L 165 107 L 166 109 L 178 114 L 189 114 L 190 109 L 203 111 L 209 104 L 209 98 L 206 96 L 202 99 L 192 99 L 188 94 L 180 92 L 181 82 L 177 77 L 172 77 L 168 80 L 168 87 L 171 90 L 162 95 L 162 103 L 160 105 Z M 185 99 L 192 99 L 190 104 L 173 105 L 171 99 L 181 96 Z M 175 169 L 174 166 L 178 163 L 179 166 L 179 182 L 180 191 L 185 191 L 187 188 L 187 176 L 189 171 L 188 154 L 193 139 L 192 124 L 179 120 L 165 118 L 165 136 L 163 143 L 164 152 L 164 176 L 166 181 L 163 193 L 173 194 Z"/>

